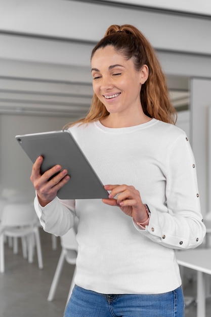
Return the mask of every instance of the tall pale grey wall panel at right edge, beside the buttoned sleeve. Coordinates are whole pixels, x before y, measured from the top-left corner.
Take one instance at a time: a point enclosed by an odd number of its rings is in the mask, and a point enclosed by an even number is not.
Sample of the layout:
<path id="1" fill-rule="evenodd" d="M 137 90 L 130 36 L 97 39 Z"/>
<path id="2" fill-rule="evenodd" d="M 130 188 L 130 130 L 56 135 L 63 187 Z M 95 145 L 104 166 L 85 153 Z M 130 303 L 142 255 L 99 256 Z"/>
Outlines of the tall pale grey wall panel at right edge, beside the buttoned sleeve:
<path id="1" fill-rule="evenodd" d="M 210 192 L 208 171 L 210 161 L 209 153 L 209 108 L 211 106 L 211 79 L 192 78 L 191 93 L 191 139 L 196 160 L 199 195 L 202 214 L 209 211 Z"/>

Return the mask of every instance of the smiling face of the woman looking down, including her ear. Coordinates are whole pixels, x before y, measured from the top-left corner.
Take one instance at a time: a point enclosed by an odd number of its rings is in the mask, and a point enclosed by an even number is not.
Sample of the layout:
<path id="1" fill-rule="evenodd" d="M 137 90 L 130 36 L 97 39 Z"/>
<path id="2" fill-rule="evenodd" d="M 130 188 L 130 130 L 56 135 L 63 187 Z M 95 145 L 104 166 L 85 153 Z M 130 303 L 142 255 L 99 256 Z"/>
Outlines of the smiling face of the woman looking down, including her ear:
<path id="1" fill-rule="evenodd" d="M 133 59 L 126 60 L 113 46 L 98 49 L 91 64 L 93 90 L 109 113 L 129 114 L 141 107 L 140 91 L 147 79 L 147 66 L 137 71 Z"/>

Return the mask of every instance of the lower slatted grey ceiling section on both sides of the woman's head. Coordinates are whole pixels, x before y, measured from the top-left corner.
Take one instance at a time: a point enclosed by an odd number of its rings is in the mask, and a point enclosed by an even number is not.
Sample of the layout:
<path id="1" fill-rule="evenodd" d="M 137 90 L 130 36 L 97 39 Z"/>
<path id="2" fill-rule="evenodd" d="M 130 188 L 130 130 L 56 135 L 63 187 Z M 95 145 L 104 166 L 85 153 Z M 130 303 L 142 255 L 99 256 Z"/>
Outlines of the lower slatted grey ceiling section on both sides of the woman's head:
<path id="1" fill-rule="evenodd" d="M 83 116 L 90 108 L 92 85 L 71 82 L 0 78 L 0 113 Z M 172 103 L 187 109 L 189 92 L 171 90 Z"/>

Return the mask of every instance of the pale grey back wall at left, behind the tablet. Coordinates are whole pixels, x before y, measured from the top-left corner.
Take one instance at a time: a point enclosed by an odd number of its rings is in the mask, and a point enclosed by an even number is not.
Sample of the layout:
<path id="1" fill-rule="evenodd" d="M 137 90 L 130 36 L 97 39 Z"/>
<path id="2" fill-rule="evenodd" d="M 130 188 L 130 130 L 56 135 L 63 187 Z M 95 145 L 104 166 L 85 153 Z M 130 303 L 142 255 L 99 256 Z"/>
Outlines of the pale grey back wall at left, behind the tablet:
<path id="1" fill-rule="evenodd" d="M 15 135 L 61 130 L 73 121 L 70 117 L 0 115 L 0 184 L 14 188 L 32 200 L 30 181 L 32 163 L 15 139 Z"/>

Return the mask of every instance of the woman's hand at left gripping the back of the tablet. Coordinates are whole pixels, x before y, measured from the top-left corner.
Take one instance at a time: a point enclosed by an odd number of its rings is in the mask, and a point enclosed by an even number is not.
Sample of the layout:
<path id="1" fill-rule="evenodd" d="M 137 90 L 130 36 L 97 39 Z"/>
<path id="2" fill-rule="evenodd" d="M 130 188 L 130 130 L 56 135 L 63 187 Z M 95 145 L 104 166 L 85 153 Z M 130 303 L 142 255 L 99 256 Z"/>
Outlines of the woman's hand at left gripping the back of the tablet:
<path id="1" fill-rule="evenodd" d="M 67 170 L 61 170 L 61 165 L 55 165 L 41 175 L 40 167 L 43 160 L 43 156 L 37 157 L 32 167 L 30 180 L 36 189 L 39 204 L 44 207 L 53 201 L 57 195 L 57 191 L 68 182 L 70 176 L 67 175 Z M 56 173 L 58 174 L 49 180 Z"/>

